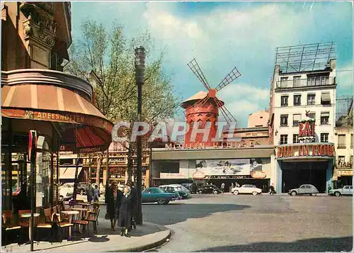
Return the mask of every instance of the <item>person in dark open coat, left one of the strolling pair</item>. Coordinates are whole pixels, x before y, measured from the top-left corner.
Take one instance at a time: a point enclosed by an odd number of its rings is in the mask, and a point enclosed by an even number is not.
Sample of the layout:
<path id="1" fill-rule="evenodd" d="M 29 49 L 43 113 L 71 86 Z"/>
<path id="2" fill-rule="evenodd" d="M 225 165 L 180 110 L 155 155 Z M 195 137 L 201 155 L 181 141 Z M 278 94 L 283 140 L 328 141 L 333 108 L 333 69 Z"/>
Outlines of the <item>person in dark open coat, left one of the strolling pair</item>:
<path id="1" fill-rule="evenodd" d="M 108 192 L 105 195 L 107 203 L 107 213 L 110 218 L 110 227 L 115 231 L 115 225 L 119 218 L 119 208 L 122 202 L 123 193 L 118 189 L 118 184 L 116 181 L 110 185 Z"/>

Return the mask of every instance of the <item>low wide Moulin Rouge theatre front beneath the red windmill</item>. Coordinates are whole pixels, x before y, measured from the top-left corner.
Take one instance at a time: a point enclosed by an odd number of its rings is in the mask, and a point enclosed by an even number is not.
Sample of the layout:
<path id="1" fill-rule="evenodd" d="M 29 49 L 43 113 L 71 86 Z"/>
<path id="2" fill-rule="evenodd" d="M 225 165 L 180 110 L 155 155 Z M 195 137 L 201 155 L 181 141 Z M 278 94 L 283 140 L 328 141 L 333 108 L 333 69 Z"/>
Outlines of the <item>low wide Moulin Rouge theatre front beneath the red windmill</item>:
<path id="1" fill-rule="evenodd" d="M 212 183 L 255 184 L 267 190 L 270 186 L 274 162 L 274 146 L 256 142 L 220 142 L 211 147 L 193 145 L 165 145 L 152 149 L 152 185 Z"/>

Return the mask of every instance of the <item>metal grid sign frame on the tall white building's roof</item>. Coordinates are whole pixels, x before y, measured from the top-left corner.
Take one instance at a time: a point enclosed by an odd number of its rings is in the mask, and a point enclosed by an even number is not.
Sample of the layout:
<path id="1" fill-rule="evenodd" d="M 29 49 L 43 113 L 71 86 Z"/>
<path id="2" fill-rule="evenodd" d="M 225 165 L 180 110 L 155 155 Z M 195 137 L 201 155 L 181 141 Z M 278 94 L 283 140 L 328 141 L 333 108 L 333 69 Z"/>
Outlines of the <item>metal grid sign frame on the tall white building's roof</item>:
<path id="1" fill-rule="evenodd" d="M 333 58 L 336 58 L 333 42 L 277 47 L 275 50 L 275 65 L 280 65 L 282 73 L 326 69 Z"/>

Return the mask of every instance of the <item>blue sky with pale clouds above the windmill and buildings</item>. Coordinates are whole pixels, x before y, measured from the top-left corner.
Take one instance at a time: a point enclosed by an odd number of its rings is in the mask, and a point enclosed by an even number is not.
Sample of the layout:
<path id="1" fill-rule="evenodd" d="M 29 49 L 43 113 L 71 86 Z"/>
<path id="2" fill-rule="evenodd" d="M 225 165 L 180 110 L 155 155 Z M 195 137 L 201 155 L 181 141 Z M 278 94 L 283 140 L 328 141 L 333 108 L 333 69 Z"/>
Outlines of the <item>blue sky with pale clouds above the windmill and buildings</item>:
<path id="1" fill-rule="evenodd" d="M 216 87 L 231 69 L 241 77 L 217 93 L 246 127 L 249 113 L 269 107 L 275 48 L 336 43 L 337 96 L 353 94 L 353 6 L 350 2 L 72 2 L 72 36 L 84 19 L 124 26 L 128 37 L 149 30 L 156 45 L 151 57 L 165 52 L 164 73 L 181 101 L 205 87 L 187 66 L 195 58 Z M 180 114 L 183 117 L 183 113 Z"/>

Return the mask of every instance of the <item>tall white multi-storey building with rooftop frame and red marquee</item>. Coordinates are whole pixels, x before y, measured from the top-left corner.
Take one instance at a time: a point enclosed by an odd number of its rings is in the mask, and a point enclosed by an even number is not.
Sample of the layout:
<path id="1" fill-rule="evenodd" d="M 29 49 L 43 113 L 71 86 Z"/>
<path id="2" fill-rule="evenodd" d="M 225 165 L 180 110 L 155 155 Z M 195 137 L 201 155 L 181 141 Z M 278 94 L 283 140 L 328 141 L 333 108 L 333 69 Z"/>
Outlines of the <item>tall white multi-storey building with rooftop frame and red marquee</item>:
<path id="1" fill-rule="evenodd" d="M 326 43 L 277 49 L 270 130 L 277 167 L 272 181 L 278 192 L 313 184 L 324 193 L 332 184 L 336 123 L 336 58 L 332 49 L 333 44 Z M 318 62 L 316 57 L 323 59 L 324 52 L 328 60 Z M 305 127 L 313 136 L 300 141 Z"/>

